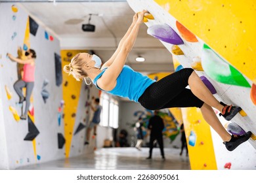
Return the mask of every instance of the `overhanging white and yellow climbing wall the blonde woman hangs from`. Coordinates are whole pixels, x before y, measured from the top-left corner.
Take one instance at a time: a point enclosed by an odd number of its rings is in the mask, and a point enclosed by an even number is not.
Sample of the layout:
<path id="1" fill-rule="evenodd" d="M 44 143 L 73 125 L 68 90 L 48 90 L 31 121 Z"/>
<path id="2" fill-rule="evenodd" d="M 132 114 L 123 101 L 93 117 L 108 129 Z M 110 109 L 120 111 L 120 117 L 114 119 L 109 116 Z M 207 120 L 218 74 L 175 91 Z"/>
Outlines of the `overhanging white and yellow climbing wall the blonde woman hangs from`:
<path id="1" fill-rule="evenodd" d="M 255 2 L 241 5 L 233 1 L 128 0 L 128 3 L 135 12 L 146 9 L 152 14 L 144 18 L 148 34 L 159 39 L 179 61 L 177 71 L 184 67 L 195 69 L 219 101 L 242 107 L 232 122 L 255 134 Z M 222 123 L 225 125 L 226 121 Z M 189 135 L 190 131 L 186 131 L 186 136 Z M 202 137 L 201 133 L 195 135 Z M 217 169 L 256 168 L 252 163 L 256 161 L 254 136 L 234 152 L 227 152 L 216 135 L 212 139 Z M 221 157 L 222 152 L 225 153 Z M 246 163 L 242 153 L 251 154 Z M 190 157 L 195 158 L 196 155 Z M 224 166 L 225 163 L 228 164 Z M 209 167 L 209 163 L 205 165 Z"/>

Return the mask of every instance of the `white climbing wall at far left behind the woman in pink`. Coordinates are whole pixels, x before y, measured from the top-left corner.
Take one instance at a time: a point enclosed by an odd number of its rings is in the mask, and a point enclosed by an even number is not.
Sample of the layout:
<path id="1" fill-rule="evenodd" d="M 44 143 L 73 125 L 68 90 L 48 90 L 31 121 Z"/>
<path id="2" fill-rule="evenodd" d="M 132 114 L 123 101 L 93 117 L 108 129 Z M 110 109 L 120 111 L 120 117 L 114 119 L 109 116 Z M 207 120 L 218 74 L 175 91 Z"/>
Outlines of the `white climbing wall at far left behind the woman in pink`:
<path id="1" fill-rule="evenodd" d="M 43 29 L 22 8 L 9 3 L 1 3 L 0 75 L 1 75 L 1 111 L 8 158 L 5 167 L 14 169 L 30 163 L 40 163 L 49 159 L 61 158 L 56 156 L 57 142 L 53 121 L 56 118 L 56 101 L 62 99 L 59 95 L 62 88 L 56 85 L 61 75 L 56 77 L 54 54 L 59 54 L 60 43 L 51 36 L 46 37 Z M 49 35 L 50 36 L 50 35 Z M 21 50 L 18 50 L 18 47 Z M 7 58 L 7 52 L 14 57 L 24 58 L 24 52 L 32 48 L 37 53 L 35 60 L 35 86 L 30 99 L 28 118 L 21 120 L 20 115 L 24 106 L 18 103 L 19 97 L 13 85 L 20 78 L 20 65 Z M 22 67 L 21 67 L 22 69 Z M 48 86 L 42 88 L 43 84 Z M 45 89 L 45 90 L 43 90 Z M 49 151 L 53 153 L 49 153 Z M 1 164 L 3 165 L 3 164 Z M 1 167 L 0 165 L 0 167 Z"/>

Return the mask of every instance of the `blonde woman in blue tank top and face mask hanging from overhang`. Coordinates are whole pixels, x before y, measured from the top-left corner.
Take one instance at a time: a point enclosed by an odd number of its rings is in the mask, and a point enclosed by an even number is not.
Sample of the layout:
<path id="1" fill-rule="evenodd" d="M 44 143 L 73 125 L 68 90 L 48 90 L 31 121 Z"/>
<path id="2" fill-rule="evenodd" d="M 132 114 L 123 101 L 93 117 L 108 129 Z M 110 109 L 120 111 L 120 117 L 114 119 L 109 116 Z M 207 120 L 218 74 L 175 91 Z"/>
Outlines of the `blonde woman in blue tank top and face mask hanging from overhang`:
<path id="1" fill-rule="evenodd" d="M 240 110 L 219 103 L 193 69 L 181 69 L 158 82 L 137 73 L 125 65 L 129 52 L 135 44 L 140 24 L 143 22 L 146 10 L 136 13 L 133 22 L 119 42 L 113 56 L 101 66 L 98 56 L 79 53 L 69 65 L 64 66 L 64 71 L 73 75 L 76 80 L 90 78 L 96 88 L 120 97 L 128 97 L 139 102 L 149 110 L 159 110 L 171 107 L 198 107 L 201 109 L 205 121 L 223 139 L 227 150 L 234 150 L 242 142 L 251 137 L 251 131 L 245 135 L 230 135 L 217 118 L 212 107 L 219 110 L 226 120 L 231 120 Z M 190 90 L 186 86 L 190 86 Z"/>

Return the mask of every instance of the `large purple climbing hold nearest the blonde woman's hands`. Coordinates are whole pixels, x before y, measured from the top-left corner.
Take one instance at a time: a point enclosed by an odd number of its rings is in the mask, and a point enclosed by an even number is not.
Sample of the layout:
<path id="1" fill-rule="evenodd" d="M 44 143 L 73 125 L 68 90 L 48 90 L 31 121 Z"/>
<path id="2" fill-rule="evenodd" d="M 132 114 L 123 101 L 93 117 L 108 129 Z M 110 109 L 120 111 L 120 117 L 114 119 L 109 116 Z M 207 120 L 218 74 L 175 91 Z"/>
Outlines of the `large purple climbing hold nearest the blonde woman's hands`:
<path id="1" fill-rule="evenodd" d="M 181 37 L 167 24 L 152 25 L 147 33 L 164 42 L 175 45 L 184 44 Z"/>

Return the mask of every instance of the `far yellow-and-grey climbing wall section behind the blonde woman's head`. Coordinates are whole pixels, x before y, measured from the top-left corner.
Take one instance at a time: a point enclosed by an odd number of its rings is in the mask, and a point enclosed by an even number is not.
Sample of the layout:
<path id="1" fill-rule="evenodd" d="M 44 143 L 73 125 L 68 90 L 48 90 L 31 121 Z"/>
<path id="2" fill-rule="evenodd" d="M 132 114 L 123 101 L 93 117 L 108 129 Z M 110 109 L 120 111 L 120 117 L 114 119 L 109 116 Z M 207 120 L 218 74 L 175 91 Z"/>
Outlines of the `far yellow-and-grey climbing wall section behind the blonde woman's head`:
<path id="1" fill-rule="evenodd" d="M 80 52 L 88 52 L 88 50 L 62 50 L 62 67 L 69 64 L 71 59 Z M 66 140 L 65 156 L 68 158 L 84 151 L 85 128 L 89 125 L 90 116 L 92 116 L 89 103 L 92 97 L 98 97 L 98 92 L 92 84 L 87 86 L 85 82 L 78 82 L 64 71 L 62 74 L 63 99 L 66 105 L 61 115 L 64 123 L 64 134 L 61 138 Z M 94 146 L 86 147 L 86 150 L 91 151 L 93 148 Z"/>

